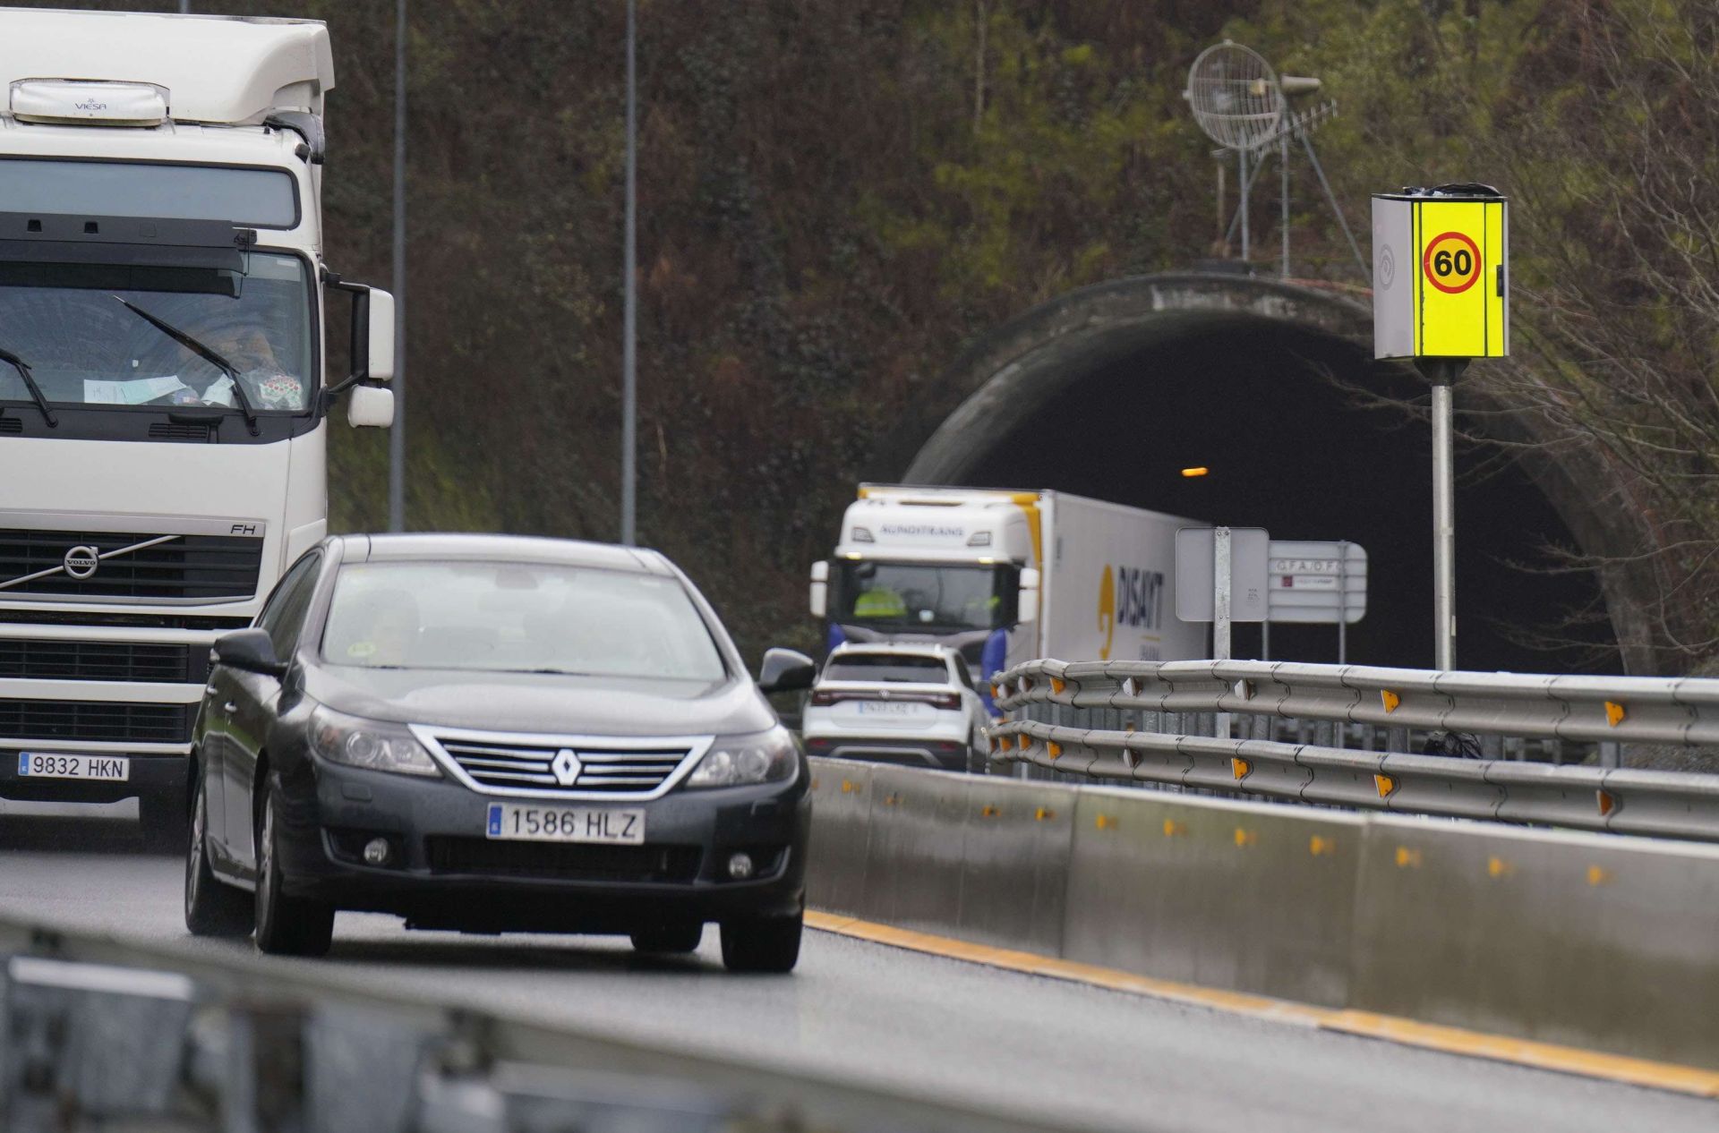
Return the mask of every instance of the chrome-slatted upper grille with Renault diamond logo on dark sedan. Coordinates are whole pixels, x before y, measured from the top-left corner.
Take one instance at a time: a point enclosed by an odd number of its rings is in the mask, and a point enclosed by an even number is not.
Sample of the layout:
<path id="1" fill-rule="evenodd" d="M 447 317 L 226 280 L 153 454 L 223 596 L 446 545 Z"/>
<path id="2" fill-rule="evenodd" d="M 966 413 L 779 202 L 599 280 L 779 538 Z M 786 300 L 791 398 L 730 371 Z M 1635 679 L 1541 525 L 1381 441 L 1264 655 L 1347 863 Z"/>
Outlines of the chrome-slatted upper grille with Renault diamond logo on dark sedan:
<path id="1" fill-rule="evenodd" d="M 655 748 L 590 743 L 555 746 L 442 736 L 437 743 L 480 789 L 543 794 L 650 794 L 667 782 L 694 746 L 691 741 Z M 564 760 L 562 751 L 571 751 L 572 758 Z M 578 763 L 578 777 L 564 782 L 572 763 Z"/>

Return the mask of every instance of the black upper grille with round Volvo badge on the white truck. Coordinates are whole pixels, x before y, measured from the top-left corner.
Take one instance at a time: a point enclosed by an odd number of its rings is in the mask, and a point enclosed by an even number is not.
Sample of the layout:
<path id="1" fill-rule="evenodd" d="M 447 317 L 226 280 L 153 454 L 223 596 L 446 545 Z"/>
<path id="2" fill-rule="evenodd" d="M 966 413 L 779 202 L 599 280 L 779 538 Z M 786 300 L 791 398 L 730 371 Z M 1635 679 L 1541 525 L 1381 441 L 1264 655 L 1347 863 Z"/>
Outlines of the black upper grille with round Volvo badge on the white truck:
<path id="1" fill-rule="evenodd" d="M 103 555 L 88 578 L 65 571 L 65 555 L 74 547 L 93 547 Z M 119 554 L 105 557 L 112 552 Z M 249 598 L 261 566 L 263 540 L 256 536 L 0 530 L 0 598 Z"/>

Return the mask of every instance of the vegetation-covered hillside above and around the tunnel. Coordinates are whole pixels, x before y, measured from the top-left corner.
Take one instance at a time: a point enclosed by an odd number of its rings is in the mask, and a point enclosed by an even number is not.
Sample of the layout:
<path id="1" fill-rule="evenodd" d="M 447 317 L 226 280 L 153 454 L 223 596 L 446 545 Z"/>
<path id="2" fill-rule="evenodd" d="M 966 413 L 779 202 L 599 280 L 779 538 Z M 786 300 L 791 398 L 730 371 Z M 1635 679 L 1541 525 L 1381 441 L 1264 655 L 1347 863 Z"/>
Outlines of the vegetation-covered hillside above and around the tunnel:
<path id="1" fill-rule="evenodd" d="M 330 256 L 385 282 L 394 5 L 220 7 L 330 22 Z M 806 564 L 854 481 L 952 409 L 964 342 L 1212 254 L 1181 89 L 1231 36 L 1339 101 L 1318 144 L 1360 230 L 1382 187 L 1516 201 L 1518 356 L 1487 380 L 1535 444 L 1626 469 L 1628 499 L 1595 505 L 1640 557 L 1576 566 L 1652 573 L 1686 669 L 1719 652 L 1716 21 L 1710 0 L 639 0 L 641 535 L 749 650 L 810 643 Z M 621 0 L 413 0 L 413 526 L 619 528 L 622 36 Z M 1358 282 L 1315 199 L 1294 225 L 1298 273 Z M 337 526 L 382 524 L 385 437 L 335 437 Z"/>

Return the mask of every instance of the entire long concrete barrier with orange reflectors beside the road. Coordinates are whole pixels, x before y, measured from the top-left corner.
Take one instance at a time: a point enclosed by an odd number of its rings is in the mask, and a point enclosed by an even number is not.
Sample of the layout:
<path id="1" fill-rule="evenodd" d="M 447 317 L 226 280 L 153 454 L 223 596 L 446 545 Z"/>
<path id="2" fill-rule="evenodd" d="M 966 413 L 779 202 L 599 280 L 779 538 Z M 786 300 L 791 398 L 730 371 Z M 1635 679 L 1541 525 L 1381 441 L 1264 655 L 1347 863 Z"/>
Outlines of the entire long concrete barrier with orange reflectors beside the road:
<path id="1" fill-rule="evenodd" d="M 813 760 L 815 908 L 1719 1068 L 1719 848 Z"/>

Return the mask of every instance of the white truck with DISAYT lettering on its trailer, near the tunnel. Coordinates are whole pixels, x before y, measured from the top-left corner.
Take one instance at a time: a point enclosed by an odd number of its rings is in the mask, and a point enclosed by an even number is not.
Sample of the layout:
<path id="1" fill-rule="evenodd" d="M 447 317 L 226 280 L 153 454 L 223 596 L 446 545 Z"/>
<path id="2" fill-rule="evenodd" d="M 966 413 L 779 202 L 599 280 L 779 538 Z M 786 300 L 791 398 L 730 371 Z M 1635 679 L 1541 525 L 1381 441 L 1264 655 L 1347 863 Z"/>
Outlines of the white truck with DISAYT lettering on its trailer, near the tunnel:
<path id="1" fill-rule="evenodd" d="M 1207 524 L 1066 492 L 861 485 L 811 566 L 811 612 L 830 648 L 945 641 L 982 686 L 1038 657 L 1203 657 L 1205 628 L 1174 614 L 1188 526 Z"/>

